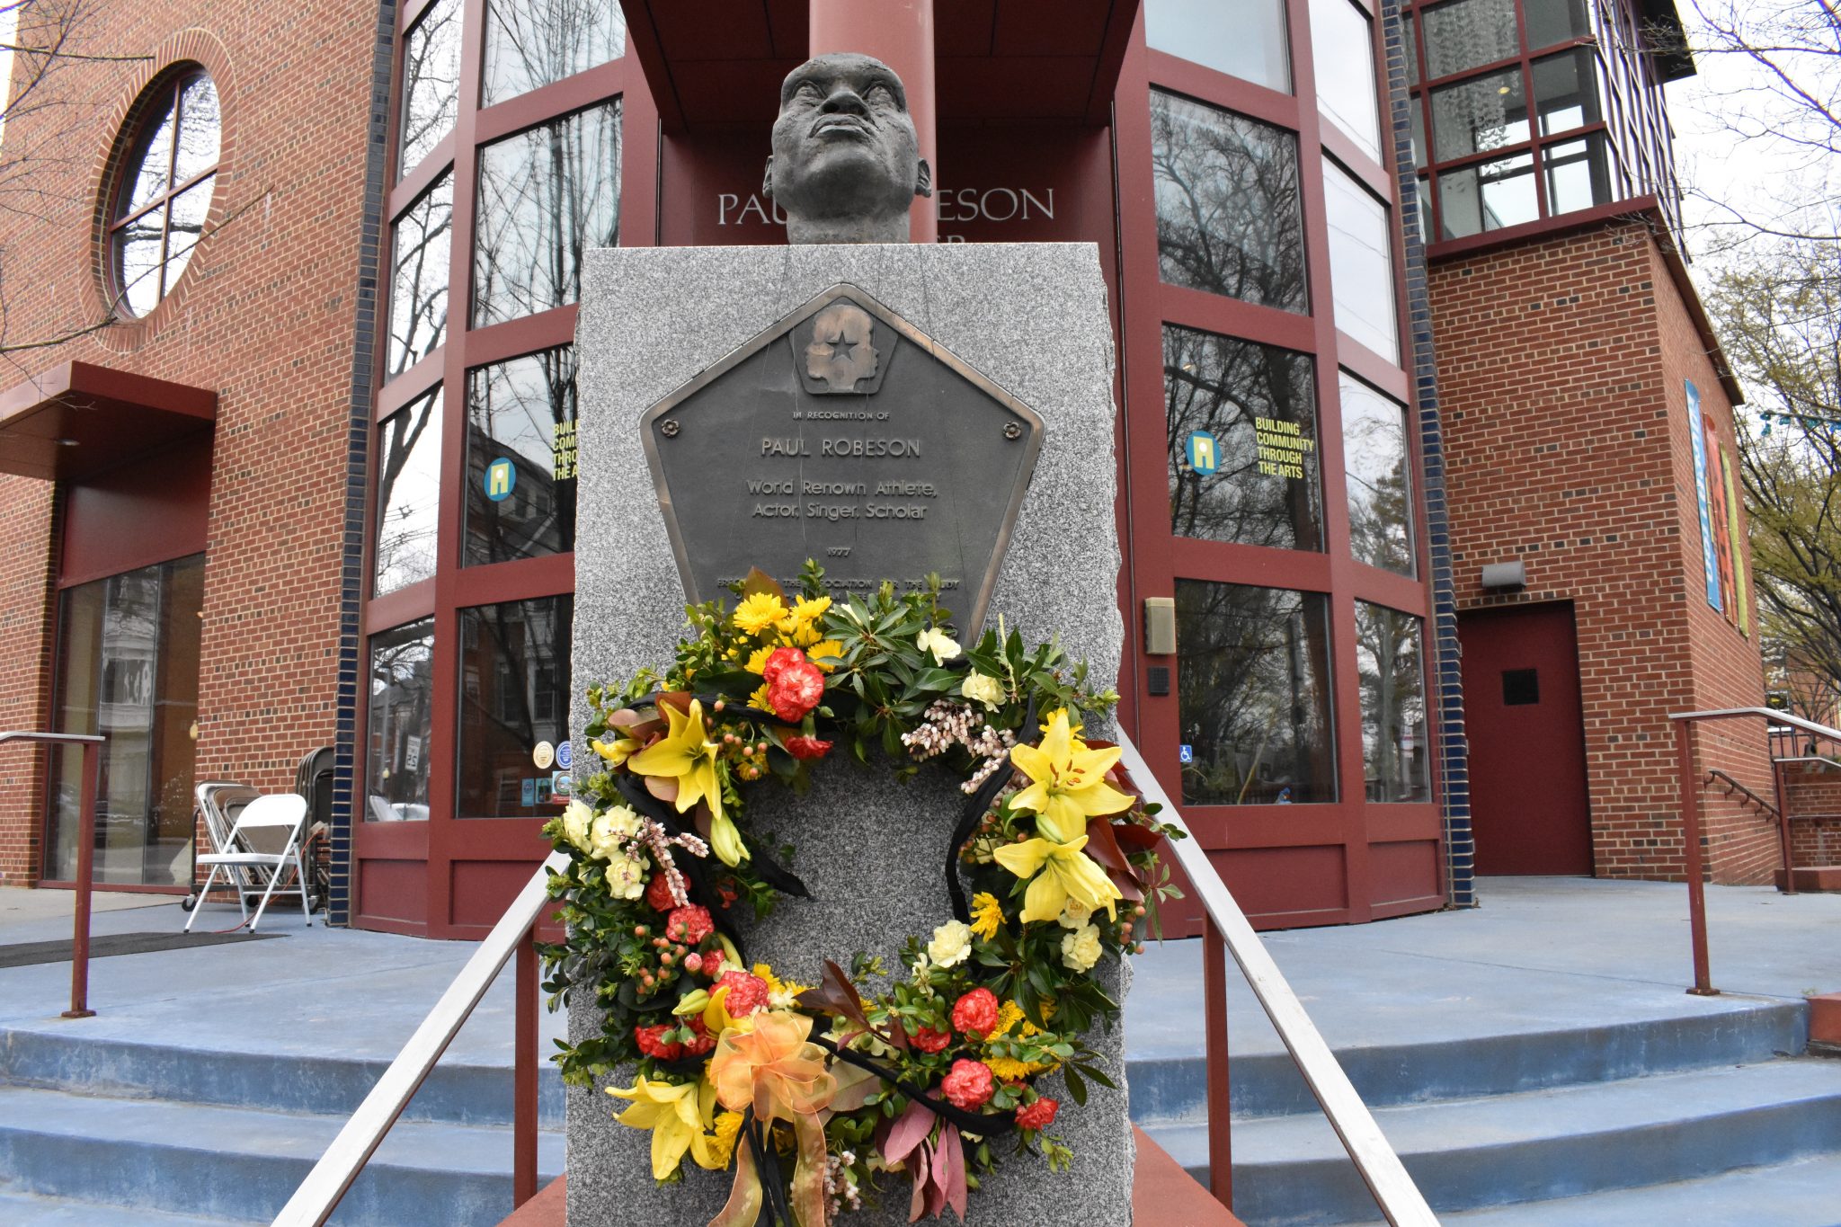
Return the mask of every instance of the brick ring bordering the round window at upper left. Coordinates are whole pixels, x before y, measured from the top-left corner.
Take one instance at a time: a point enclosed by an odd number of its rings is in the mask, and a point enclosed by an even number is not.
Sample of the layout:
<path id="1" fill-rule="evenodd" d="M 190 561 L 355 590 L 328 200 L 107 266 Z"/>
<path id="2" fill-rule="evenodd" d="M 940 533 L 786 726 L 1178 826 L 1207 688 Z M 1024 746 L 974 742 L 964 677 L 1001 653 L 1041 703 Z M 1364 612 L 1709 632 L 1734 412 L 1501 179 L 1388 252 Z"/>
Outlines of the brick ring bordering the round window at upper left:
<path id="1" fill-rule="evenodd" d="M 199 235 L 191 259 L 184 274 L 168 294 L 155 304 L 153 311 L 138 318 L 123 318 L 118 324 L 96 333 L 96 342 L 110 353 L 134 353 L 144 344 L 160 335 L 169 320 L 180 318 L 186 296 L 193 281 L 212 274 L 212 234 L 232 213 L 236 199 L 236 116 L 237 86 L 230 52 L 217 35 L 197 26 L 179 29 L 153 50 L 149 59 L 114 107 L 109 110 L 109 145 L 98 153 L 96 167 L 90 173 L 90 276 L 85 298 L 90 305 L 90 318 L 103 318 L 109 313 L 109 202 L 114 197 L 116 178 L 122 173 L 122 160 L 129 142 L 123 132 L 140 118 L 147 105 L 149 86 L 171 77 L 175 72 L 197 64 L 210 74 L 217 86 L 219 145 L 217 145 L 217 182 L 212 186 L 212 204 L 204 213 L 204 232 Z"/>

